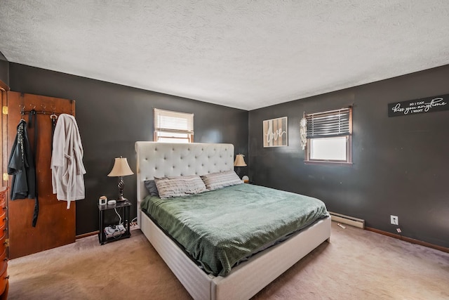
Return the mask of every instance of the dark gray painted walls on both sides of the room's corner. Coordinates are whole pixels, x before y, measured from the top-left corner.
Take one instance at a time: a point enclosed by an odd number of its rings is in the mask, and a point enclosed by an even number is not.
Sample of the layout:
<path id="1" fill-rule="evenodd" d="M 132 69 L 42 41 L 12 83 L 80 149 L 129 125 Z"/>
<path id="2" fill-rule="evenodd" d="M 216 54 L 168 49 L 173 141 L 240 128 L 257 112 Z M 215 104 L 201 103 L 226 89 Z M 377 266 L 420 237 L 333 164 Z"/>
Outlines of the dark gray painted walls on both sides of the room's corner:
<path id="1" fill-rule="evenodd" d="M 249 113 L 15 63 L 6 69 L 13 91 L 76 100 L 88 171 L 86 200 L 76 207 L 78 235 L 98 230 L 98 197 L 116 195 L 116 178 L 107 177 L 114 157 L 127 157 L 135 171 L 134 142 L 152 140 L 152 108 L 157 107 L 194 112 L 196 142 L 234 143 L 250 166 L 241 174 L 250 171 L 256 184 L 318 197 L 331 211 L 391 233 L 396 233 L 389 224 L 394 214 L 404 236 L 449 247 L 449 111 L 387 117 L 388 103 L 449 93 L 449 66 Z M 304 164 L 302 113 L 345 105 L 354 105 L 354 164 Z M 263 148 L 262 121 L 275 117 L 288 117 L 289 145 Z M 125 196 L 135 203 L 135 175 L 124 181 Z"/>

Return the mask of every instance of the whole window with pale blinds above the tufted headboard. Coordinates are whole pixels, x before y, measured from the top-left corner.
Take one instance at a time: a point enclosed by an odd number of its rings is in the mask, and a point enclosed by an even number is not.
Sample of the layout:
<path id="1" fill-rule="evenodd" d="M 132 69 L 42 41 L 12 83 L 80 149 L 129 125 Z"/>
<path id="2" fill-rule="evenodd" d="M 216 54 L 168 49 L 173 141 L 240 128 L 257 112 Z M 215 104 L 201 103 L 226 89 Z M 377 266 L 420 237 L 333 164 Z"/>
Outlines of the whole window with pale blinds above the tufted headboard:
<path id="1" fill-rule="evenodd" d="M 154 108 L 154 141 L 193 143 L 194 114 Z"/>

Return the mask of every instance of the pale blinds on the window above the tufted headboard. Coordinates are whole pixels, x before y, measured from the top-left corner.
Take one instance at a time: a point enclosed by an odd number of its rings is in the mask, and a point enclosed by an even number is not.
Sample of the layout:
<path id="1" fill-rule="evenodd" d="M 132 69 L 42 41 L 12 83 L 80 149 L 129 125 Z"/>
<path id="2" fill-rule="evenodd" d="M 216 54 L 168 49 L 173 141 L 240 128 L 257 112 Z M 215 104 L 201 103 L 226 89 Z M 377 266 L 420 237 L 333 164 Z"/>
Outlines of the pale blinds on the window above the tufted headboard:
<path id="1" fill-rule="evenodd" d="M 154 130 L 194 134 L 194 114 L 154 108 Z"/>

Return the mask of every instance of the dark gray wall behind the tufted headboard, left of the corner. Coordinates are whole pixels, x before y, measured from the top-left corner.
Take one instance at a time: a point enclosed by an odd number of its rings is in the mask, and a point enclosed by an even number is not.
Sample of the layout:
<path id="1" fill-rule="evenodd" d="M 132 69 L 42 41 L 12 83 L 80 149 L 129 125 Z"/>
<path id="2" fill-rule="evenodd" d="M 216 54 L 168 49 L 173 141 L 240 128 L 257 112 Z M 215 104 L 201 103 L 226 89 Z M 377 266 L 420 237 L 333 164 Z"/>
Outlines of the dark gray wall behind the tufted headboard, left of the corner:
<path id="1" fill-rule="evenodd" d="M 12 91 L 76 101 L 76 121 L 84 148 L 86 199 L 76 204 L 76 234 L 98 230 L 98 197 L 118 194 L 107 174 L 114 157 L 128 158 L 135 172 L 135 141 L 152 141 L 153 107 L 194 113 L 194 141 L 232 143 L 248 155 L 248 111 L 134 89 L 36 67 L 10 63 Z M 123 177 L 124 195 L 135 204 L 136 176 Z M 133 206 L 132 217 L 136 216 Z"/>

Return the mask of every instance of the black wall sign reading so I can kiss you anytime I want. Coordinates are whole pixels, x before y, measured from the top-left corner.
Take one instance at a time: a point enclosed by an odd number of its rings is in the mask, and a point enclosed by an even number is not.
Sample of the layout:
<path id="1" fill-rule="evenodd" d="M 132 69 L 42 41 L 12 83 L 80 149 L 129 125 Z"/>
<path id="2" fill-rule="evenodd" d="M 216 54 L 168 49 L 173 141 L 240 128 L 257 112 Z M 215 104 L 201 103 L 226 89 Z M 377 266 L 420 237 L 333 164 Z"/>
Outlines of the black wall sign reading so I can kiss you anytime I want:
<path id="1" fill-rule="evenodd" d="M 449 110 L 449 94 L 409 100 L 395 103 L 388 103 L 388 117 L 407 116 L 423 114 L 426 112 L 440 112 Z"/>

